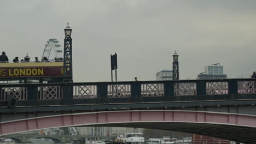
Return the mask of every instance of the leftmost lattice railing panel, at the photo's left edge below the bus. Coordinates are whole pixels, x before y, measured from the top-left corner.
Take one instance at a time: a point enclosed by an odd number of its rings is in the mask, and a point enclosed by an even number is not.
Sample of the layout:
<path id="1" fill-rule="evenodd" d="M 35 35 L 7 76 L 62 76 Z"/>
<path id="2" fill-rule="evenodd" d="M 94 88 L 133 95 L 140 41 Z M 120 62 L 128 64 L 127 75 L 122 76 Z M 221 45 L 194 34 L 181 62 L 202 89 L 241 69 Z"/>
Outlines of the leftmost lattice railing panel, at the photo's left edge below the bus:
<path id="1" fill-rule="evenodd" d="M 27 87 L 2 87 L 2 100 L 12 96 L 16 100 L 27 100 Z"/>

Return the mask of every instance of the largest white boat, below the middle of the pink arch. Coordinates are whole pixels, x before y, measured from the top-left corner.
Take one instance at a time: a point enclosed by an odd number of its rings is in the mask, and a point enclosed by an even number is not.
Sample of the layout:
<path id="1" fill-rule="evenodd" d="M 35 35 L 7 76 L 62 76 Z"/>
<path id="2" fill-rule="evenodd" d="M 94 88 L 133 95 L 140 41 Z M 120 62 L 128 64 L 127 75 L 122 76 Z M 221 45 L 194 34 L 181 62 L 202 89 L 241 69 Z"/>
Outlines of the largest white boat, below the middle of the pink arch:
<path id="1" fill-rule="evenodd" d="M 144 144 L 144 135 L 141 133 L 130 133 L 120 136 L 120 140 L 123 140 L 127 144 Z"/>

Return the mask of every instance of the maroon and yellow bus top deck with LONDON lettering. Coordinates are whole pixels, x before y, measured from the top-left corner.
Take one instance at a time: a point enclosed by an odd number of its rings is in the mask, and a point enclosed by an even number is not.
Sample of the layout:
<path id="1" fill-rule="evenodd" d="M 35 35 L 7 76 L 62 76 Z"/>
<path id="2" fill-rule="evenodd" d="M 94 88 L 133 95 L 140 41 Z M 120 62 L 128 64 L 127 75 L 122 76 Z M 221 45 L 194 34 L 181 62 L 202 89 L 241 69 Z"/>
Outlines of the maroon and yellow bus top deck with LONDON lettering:
<path id="1" fill-rule="evenodd" d="M 63 62 L 0 62 L 0 83 L 60 82 Z"/>

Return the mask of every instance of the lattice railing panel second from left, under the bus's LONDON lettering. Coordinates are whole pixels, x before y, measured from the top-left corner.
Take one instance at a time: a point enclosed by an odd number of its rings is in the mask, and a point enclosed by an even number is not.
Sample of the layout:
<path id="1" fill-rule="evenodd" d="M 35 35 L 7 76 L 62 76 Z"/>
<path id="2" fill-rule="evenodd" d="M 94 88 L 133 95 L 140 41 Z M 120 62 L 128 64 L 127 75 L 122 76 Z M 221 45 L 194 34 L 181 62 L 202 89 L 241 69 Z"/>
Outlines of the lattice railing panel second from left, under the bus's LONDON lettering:
<path id="1" fill-rule="evenodd" d="M 38 87 L 38 99 L 39 100 L 53 100 L 62 99 L 62 87 L 61 86 L 42 86 Z"/>

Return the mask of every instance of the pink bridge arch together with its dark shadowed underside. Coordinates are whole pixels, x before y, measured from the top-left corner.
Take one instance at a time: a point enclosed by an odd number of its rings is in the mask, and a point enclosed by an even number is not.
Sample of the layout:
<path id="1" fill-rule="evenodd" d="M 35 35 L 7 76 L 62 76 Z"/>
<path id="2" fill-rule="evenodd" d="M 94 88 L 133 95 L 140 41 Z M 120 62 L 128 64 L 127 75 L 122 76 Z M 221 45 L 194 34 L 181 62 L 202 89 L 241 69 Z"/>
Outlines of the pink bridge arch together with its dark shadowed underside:
<path id="1" fill-rule="evenodd" d="M 0 134 L 85 125 L 174 130 L 242 143 L 256 141 L 256 116 L 173 110 L 103 111 L 19 119 L 0 123 Z"/>

